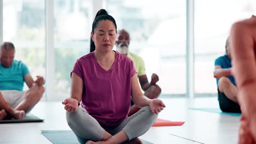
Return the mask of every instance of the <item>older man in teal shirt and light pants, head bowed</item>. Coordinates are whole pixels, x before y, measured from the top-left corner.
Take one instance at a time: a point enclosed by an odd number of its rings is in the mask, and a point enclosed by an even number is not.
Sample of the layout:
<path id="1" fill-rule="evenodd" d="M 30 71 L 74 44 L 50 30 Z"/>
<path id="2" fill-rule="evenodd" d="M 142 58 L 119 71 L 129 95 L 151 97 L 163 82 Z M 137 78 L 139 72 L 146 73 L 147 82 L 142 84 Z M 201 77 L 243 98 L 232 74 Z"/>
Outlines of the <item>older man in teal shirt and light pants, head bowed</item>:
<path id="1" fill-rule="evenodd" d="M 34 81 L 27 66 L 14 60 L 13 43 L 0 46 L 0 120 L 8 115 L 22 119 L 40 100 L 44 93 L 44 78 L 37 76 Z M 24 82 L 28 86 L 23 91 Z"/>

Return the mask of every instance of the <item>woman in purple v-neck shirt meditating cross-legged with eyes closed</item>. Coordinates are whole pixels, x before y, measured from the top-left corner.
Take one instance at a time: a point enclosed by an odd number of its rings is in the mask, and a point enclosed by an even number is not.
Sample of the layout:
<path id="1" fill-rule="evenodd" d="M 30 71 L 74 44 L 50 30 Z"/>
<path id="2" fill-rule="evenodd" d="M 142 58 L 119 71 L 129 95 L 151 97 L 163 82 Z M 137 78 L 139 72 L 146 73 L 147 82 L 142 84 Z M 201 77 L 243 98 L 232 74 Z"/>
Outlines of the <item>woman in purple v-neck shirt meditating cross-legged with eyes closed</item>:
<path id="1" fill-rule="evenodd" d="M 117 25 L 107 11 L 98 11 L 92 23 L 90 53 L 75 62 L 71 98 L 63 104 L 69 127 L 80 143 L 142 143 L 165 105 L 145 97 L 130 58 L 113 51 Z M 127 117 L 131 97 L 142 107 Z M 82 101 L 81 105 L 80 101 Z"/>

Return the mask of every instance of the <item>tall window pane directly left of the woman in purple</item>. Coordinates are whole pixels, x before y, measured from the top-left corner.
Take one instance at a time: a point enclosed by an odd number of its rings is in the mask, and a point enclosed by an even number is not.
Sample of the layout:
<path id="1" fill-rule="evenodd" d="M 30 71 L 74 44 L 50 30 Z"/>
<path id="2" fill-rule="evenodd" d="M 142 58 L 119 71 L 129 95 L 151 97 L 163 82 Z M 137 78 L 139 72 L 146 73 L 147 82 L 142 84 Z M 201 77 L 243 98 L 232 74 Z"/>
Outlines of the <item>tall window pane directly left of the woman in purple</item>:
<path id="1" fill-rule="evenodd" d="M 90 0 L 54 1 L 54 95 L 69 97 L 75 61 L 89 53 L 92 7 Z"/>

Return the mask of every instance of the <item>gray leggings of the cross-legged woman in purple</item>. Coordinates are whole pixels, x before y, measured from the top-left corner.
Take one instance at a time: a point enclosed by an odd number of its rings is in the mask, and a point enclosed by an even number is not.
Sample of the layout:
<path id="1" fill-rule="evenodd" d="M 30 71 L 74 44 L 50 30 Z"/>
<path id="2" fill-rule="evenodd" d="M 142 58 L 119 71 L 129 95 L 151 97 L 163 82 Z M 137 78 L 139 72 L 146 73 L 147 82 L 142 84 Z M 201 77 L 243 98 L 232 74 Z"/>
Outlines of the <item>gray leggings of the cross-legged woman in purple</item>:
<path id="1" fill-rule="evenodd" d="M 152 113 L 149 106 L 145 106 L 114 128 L 102 128 L 96 119 L 90 116 L 83 107 L 78 107 L 76 112 L 66 112 L 66 118 L 69 127 L 77 135 L 78 141 L 84 144 L 88 140 L 102 140 L 105 131 L 115 135 L 124 130 L 130 141 L 145 134 L 154 124 L 158 115 Z"/>

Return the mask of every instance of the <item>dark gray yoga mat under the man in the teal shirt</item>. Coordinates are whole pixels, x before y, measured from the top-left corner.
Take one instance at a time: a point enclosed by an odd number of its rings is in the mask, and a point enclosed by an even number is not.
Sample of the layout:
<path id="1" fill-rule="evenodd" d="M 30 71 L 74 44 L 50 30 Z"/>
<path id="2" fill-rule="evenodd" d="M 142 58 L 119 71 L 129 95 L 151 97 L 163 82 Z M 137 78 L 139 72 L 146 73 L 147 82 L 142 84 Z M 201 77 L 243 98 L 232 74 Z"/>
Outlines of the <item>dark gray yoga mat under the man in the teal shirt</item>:
<path id="1" fill-rule="evenodd" d="M 1 123 L 30 123 L 30 122 L 43 122 L 44 119 L 40 119 L 37 116 L 34 116 L 32 113 L 27 113 L 24 117 L 24 119 L 15 119 L 15 118 L 10 118 L 10 119 L 4 119 L 0 120 Z"/>

